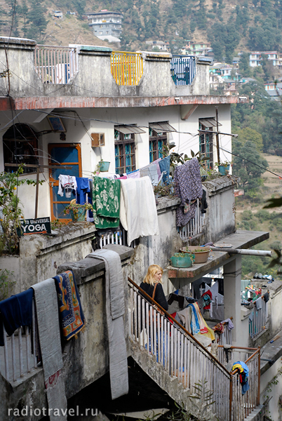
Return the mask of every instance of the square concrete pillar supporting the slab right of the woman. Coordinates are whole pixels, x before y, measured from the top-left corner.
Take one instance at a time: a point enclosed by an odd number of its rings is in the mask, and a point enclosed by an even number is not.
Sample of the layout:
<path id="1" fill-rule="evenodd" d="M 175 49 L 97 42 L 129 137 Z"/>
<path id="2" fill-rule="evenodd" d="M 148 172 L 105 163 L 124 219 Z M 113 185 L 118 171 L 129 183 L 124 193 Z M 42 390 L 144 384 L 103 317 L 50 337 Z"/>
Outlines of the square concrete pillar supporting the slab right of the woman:
<path id="1" fill-rule="evenodd" d="M 232 345 L 240 346 L 241 328 L 241 255 L 223 267 L 224 319 L 233 317 Z"/>

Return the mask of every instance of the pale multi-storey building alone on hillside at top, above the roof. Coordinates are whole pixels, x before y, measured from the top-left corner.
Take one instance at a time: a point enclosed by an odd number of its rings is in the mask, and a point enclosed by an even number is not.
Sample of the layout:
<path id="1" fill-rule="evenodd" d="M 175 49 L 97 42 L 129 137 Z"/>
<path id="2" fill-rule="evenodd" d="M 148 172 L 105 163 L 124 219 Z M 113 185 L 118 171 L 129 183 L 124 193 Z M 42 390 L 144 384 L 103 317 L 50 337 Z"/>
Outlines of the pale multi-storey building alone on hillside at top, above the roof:
<path id="1" fill-rule="evenodd" d="M 98 13 L 87 13 L 88 25 L 92 27 L 94 35 L 109 42 L 119 42 L 122 32 L 123 14 L 102 10 Z"/>

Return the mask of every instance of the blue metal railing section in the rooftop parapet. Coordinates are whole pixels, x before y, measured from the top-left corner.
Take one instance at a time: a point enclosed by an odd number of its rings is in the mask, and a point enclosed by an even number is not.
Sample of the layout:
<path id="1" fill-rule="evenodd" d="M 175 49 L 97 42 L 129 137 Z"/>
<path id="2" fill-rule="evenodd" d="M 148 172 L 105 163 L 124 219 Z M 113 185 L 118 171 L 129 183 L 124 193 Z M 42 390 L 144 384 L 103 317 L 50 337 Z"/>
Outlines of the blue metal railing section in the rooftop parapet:
<path id="1" fill-rule="evenodd" d="M 191 85 L 196 74 L 194 55 L 173 55 L 170 62 L 170 74 L 175 85 Z"/>

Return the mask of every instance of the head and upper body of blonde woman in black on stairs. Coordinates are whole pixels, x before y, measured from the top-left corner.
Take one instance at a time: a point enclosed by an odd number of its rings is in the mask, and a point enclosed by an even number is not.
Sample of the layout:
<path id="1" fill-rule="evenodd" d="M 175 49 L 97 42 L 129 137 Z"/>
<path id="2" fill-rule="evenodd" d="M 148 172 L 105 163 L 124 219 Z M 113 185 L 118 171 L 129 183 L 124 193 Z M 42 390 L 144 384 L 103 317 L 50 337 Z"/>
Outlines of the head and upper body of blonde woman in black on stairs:
<path id="1" fill-rule="evenodd" d="M 152 297 L 154 287 L 157 284 L 154 300 L 161 305 L 163 309 L 168 310 L 168 302 L 166 301 L 166 297 L 163 293 L 163 287 L 161 286 L 161 276 L 163 276 L 163 269 L 159 265 L 149 266 L 144 281 L 140 283 L 140 288 Z"/>

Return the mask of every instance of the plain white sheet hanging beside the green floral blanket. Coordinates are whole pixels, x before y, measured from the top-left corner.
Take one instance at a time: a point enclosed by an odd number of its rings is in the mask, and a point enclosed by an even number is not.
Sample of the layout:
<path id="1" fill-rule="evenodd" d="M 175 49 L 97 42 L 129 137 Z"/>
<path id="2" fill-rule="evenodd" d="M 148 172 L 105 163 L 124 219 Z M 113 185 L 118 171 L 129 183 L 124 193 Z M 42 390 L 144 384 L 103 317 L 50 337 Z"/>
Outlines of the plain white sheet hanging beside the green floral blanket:
<path id="1" fill-rule="evenodd" d="M 156 200 L 149 177 L 121 180 L 121 224 L 127 243 L 140 236 L 158 235 Z"/>

